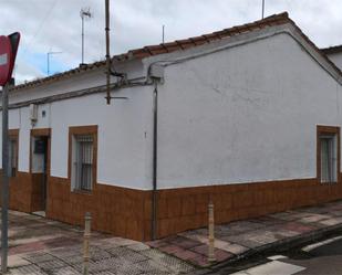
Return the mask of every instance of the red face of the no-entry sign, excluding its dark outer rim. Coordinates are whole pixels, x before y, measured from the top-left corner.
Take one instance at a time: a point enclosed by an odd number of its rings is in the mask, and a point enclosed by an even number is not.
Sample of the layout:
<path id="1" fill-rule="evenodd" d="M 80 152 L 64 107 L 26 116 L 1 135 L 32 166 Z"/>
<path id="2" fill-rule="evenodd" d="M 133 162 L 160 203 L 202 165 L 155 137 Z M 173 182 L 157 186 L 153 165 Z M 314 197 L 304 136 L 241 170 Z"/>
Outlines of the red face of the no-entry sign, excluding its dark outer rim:
<path id="1" fill-rule="evenodd" d="M 0 36 L 0 86 L 4 86 L 11 78 L 13 68 L 13 53 L 8 36 Z"/>

